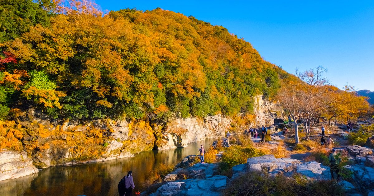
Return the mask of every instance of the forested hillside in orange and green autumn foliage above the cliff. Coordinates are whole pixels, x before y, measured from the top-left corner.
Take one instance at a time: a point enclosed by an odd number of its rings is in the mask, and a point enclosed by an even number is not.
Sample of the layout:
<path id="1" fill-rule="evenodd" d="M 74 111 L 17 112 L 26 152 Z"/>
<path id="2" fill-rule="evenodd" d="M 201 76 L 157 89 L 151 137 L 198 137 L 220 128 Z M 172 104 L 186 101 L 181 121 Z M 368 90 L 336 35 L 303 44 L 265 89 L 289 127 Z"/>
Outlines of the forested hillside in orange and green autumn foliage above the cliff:
<path id="1" fill-rule="evenodd" d="M 102 14 L 90 5 L 5 0 L 0 10 L 1 118 L 169 118 L 251 112 L 282 69 L 250 43 L 162 9 Z"/>

